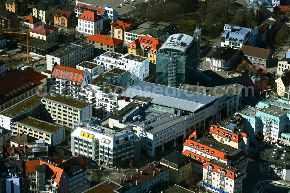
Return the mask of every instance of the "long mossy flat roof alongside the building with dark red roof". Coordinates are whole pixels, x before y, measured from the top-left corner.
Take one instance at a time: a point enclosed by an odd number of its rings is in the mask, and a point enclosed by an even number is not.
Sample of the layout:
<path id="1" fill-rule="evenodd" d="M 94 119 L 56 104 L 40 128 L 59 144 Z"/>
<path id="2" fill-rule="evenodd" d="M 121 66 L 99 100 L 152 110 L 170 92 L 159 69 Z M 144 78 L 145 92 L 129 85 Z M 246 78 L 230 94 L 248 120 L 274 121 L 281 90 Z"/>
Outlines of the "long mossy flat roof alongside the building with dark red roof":
<path id="1" fill-rule="evenodd" d="M 12 118 L 12 117 L 22 113 L 23 111 L 34 107 L 38 103 L 41 103 L 41 99 L 43 96 L 45 96 L 43 93 L 39 93 L 39 94 L 35 95 L 34 97 L 26 99 L 22 103 L 15 105 L 14 107 L 8 109 L 7 111 L 4 111 L 2 113 L 2 115 L 5 115 L 5 116 Z"/>

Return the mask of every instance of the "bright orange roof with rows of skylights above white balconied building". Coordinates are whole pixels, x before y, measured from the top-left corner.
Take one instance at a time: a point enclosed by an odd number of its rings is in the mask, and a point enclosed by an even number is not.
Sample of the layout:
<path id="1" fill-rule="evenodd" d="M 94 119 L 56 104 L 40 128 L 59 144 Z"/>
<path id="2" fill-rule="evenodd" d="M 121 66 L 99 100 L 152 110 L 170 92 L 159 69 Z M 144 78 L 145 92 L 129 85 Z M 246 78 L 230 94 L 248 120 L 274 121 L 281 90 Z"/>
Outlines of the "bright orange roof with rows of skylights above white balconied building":
<path id="1" fill-rule="evenodd" d="M 53 68 L 51 77 L 55 79 L 67 80 L 75 83 L 82 83 L 84 80 L 84 70 L 78 70 L 66 66 L 56 65 Z"/>

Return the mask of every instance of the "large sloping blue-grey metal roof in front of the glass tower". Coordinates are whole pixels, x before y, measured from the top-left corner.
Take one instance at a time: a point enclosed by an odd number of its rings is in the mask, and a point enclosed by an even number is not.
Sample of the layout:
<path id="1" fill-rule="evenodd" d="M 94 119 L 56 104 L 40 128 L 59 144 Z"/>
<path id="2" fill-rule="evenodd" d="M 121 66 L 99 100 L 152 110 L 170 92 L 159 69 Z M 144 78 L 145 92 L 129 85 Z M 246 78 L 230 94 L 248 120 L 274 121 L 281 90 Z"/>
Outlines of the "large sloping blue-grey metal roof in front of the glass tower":
<path id="1" fill-rule="evenodd" d="M 191 92 L 188 90 L 157 85 L 148 82 L 139 82 L 127 88 L 121 96 L 133 98 L 136 95 L 153 98 L 151 103 L 171 108 L 195 112 L 216 100 L 218 97 Z"/>

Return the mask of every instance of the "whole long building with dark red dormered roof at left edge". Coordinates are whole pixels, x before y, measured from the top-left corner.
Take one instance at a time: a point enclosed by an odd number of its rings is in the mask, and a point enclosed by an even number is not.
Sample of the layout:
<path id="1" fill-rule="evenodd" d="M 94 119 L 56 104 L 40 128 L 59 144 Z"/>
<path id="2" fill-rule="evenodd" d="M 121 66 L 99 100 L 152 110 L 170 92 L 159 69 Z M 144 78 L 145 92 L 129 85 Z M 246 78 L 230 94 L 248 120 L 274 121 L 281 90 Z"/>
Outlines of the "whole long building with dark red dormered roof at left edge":
<path id="1" fill-rule="evenodd" d="M 46 85 L 46 77 L 32 69 L 23 72 L 15 70 L 0 77 L 0 82 L 3 83 L 0 89 L 0 111 L 10 108 L 42 90 Z"/>

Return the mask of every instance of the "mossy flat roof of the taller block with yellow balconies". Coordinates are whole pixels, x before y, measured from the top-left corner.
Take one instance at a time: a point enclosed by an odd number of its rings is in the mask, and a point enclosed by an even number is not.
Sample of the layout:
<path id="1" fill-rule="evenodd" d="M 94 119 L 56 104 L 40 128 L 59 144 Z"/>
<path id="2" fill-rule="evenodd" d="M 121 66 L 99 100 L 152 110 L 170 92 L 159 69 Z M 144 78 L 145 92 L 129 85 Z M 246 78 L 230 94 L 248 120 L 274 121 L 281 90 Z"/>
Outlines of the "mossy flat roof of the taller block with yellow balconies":
<path id="1" fill-rule="evenodd" d="M 85 101 L 81 101 L 79 99 L 75 99 L 72 97 L 67 97 L 62 94 L 58 94 L 56 96 L 53 96 L 52 94 L 44 97 L 43 99 L 48 99 L 49 101 L 56 101 L 58 103 L 64 104 L 64 106 L 69 105 L 74 108 L 85 108 L 86 106 L 90 105 L 91 103 L 87 103 Z"/>

